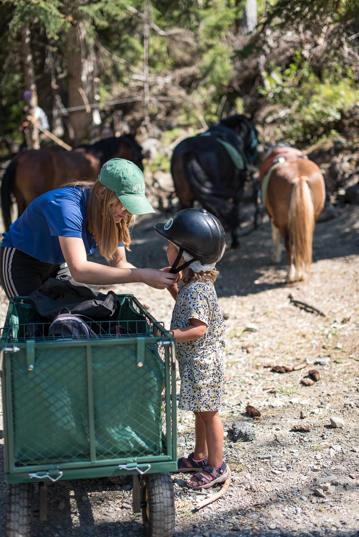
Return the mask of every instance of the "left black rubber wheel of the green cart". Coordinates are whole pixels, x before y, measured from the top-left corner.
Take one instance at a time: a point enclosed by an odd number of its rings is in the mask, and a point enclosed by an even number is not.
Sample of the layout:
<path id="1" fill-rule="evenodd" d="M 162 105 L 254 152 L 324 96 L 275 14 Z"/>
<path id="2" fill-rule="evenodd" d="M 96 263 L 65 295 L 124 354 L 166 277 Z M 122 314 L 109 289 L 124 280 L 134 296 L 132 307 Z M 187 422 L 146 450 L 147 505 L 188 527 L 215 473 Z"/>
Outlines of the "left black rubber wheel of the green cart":
<path id="1" fill-rule="evenodd" d="M 31 537 L 33 483 L 6 485 L 5 537 Z"/>

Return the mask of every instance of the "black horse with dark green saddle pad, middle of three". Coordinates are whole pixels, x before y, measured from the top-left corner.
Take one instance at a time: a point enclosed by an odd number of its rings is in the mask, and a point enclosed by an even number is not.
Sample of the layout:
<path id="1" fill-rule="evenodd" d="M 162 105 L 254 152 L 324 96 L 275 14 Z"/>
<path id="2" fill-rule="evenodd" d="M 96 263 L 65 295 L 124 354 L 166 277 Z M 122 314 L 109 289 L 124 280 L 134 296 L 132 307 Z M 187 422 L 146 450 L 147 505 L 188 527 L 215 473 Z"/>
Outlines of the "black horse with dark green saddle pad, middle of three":
<path id="1" fill-rule="evenodd" d="M 205 133 L 182 140 L 171 158 L 171 174 L 180 209 L 197 200 L 217 216 L 239 246 L 239 202 L 249 164 L 257 156 L 257 132 L 252 120 L 236 114 Z"/>

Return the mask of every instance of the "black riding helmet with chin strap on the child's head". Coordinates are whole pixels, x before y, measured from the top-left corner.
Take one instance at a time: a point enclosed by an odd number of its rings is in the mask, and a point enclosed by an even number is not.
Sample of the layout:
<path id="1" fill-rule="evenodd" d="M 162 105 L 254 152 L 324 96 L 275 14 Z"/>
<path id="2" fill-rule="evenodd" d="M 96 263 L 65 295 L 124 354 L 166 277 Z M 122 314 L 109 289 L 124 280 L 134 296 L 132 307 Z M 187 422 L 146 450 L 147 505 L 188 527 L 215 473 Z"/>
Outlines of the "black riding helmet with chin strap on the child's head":
<path id="1" fill-rule="evenodd" d="M 225 231 L 216 216 L 205 209 L 183 209 L 167 222 L 155 224 L 155 231 L 180 248 L 170 272 L 179 272 L 195 260 L 202 265 L 217 263 L 225 251 Z M 176 267 L 183 251 L 193 259 Z"/>

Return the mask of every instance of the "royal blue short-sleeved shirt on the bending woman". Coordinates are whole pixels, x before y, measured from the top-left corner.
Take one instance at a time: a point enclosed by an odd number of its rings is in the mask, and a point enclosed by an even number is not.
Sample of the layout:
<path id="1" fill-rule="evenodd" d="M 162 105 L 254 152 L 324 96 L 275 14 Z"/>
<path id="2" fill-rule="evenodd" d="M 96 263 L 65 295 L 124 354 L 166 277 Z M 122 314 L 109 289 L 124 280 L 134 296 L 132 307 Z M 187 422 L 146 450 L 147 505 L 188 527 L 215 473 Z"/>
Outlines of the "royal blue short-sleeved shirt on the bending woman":
<path id="1" fill-rule="evenodd" d="M 57 188 L 35 198 L 24 213 L 3 233 L 1 246 L 17 248 L 44 263 L 61 265 L 63 253 L 58 237 L 82 238 L 87 254 L 96 250 L 88 230 L 86 201 L 89 188 Z"/>

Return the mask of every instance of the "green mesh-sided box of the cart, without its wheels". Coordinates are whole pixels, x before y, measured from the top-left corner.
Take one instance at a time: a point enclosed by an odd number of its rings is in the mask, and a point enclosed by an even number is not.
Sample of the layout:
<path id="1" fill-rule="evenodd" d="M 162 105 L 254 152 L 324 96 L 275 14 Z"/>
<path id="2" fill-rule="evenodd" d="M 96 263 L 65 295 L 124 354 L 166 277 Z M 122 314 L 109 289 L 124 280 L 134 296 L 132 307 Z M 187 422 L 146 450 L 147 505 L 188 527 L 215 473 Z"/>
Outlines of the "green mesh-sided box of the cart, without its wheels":
<path id="1" fill-rule="evenodd" d="M 46 325 L 30 338 L 31 304 L 11 302 L 0 342 L 7 471 L 176 459 L 173 338 L 132 295 L 119 299 L 120 332 L 107 322 L 76 339 Z"/>

